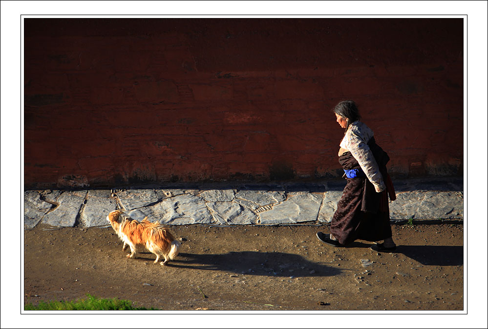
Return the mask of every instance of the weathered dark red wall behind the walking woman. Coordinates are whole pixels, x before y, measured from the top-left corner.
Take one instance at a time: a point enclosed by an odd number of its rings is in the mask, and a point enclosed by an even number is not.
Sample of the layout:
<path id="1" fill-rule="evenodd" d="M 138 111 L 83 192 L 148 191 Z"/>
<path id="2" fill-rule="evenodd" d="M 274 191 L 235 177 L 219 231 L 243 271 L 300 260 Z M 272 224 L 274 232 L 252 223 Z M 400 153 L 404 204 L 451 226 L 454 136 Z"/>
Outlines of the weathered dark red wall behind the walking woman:
<path id="1" fill-rule="evenodd" d="M 463 163 L 462 19 L 24 19 L 24 186 L 340 176 L 354 99 L 392 175 Z"/>

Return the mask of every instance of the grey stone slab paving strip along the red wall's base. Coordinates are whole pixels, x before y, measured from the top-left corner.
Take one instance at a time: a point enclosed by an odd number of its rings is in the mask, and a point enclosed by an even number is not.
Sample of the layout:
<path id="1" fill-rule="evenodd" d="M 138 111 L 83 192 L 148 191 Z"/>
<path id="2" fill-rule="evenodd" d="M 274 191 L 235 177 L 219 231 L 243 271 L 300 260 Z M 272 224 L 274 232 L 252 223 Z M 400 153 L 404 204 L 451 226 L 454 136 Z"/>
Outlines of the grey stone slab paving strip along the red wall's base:
<path id="1" fill-rule="evenodd" d="M 463 220 L 462 178 L 394 180 L 390 218 Z M 314 183 L 214 183 L 130 187 L 119 190 L 24 191 L 24 228 L 107 226 L 106 215 L 124 210 L 169 225 L 280 225 L 330 222 L 344 180 Z"/>

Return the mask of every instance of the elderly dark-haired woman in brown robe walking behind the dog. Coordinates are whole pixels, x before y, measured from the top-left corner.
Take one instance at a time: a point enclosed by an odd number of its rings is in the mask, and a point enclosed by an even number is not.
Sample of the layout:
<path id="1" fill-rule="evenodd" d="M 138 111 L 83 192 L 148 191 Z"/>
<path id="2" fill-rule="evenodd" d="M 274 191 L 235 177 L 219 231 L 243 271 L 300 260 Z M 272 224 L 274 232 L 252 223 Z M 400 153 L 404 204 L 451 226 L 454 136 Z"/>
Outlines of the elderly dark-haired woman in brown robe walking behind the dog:
<path id="1" fill-rule="evenodd" d="M 388 195 L 395 200 L 395 191 L 386 172 L 390 158 L 376 144 L 373 131 L 360 121 L 354 101 L 340 102 L 334 112 L 337 122 L 345 129 L 339 163 L 347 182 L 330 223 L 330 234 L 318 232 L 317 237 L 335 247 L 355 240 L 383 240 L 371 249 L 395 251 L 388 208 Z"/>

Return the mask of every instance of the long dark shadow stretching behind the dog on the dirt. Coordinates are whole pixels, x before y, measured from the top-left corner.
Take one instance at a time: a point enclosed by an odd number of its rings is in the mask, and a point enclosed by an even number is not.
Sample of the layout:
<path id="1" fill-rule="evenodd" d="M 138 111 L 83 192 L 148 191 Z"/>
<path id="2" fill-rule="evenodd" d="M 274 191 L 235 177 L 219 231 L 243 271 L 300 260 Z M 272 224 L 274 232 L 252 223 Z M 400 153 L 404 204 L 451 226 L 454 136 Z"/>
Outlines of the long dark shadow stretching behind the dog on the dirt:
<path id="1" fill-rule="evenodd" d="M 246 275 L 279 277 L 333 276 L 342 271 L 302 256 L 284 252 L 228 252 L 220 254 L 179 253 L 166 266 L 213 270 Z"/>

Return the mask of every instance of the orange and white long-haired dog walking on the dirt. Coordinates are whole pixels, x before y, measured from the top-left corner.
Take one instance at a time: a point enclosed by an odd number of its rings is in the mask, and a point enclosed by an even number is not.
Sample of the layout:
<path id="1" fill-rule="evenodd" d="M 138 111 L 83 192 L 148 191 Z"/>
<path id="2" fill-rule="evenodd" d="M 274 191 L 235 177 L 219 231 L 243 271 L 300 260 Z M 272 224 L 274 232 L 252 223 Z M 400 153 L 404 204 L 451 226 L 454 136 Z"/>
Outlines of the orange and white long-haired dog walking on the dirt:
<path id="1" fill-rule="evenodd" d="M 136 258 L 135 253 L 146 248 L 156 255 L 154 264 L 164 257 L 161 265 L 166 265 L 179 253 L 181 243 L 176 241 L 168 228 L 159 221 L 151 223 L 146 216 L 139 222 L 121 210 L 110 212 L 107 221 L 124 242 L 122 250 L 126 250 L 127 245 L 130 247 L 131 253 L 127 254 L 127 258 Z"/>

